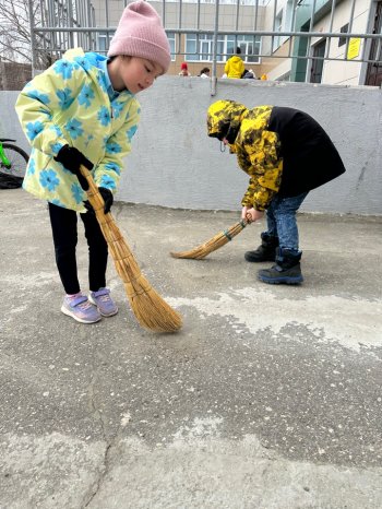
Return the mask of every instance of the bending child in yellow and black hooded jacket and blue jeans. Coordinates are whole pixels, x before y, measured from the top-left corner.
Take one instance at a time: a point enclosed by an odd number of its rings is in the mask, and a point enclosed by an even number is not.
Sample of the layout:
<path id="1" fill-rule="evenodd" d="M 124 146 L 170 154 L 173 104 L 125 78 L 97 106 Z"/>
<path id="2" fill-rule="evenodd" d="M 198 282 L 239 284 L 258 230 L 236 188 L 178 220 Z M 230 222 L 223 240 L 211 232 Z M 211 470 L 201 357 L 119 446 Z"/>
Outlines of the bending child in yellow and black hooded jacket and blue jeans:
<path id="1" fill-rule="evenodd" d="M 247 251 L 246 260 L 276 262 L 259 271 L 264 283 L 301 283 L 296 213 L 309 191 L 345 171 L 331 139 L 312 117 L 298 109 L 248 109 L 235 100 L 210 106 L 207 133 L 228 144 L 240 168 L 250 176 L 241 216 L 250 214 L 258 221 L 266 211 L 262 244 L 255 251 Z"/>

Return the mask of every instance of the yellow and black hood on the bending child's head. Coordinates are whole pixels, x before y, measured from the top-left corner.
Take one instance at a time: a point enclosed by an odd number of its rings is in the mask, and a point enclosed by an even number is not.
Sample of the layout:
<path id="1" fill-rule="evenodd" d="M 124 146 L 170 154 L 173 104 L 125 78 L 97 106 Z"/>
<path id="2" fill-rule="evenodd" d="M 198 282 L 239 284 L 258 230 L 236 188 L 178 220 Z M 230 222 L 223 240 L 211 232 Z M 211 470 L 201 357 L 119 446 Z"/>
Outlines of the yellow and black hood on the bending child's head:
<path id="1" fill-rule="evenodd" d="M 248 109 L 236 100 L 217 100 L 207 110 L 207 134 L 232 144 Z"/>

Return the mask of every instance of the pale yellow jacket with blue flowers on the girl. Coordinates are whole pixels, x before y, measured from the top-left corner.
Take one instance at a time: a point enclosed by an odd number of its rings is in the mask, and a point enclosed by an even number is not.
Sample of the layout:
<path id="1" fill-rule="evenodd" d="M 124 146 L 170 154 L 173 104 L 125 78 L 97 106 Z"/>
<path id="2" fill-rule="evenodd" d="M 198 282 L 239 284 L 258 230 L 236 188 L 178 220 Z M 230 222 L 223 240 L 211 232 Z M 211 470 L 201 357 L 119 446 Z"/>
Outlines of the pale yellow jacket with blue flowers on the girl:
<path id="1" fill-rule="evenodd" d="M 77 212 L 86 212 L 86 193 L 55 156 L 65 144 L 75 146 L 94 164 L 96 185 L 115 192 L 139 123 L 133 94 L 123 91 L 110 100 L 99 66 L 105 59 L 81 48 L 67 51 L 24 87 L 15 105 L 32 146 L 23 188 Z"/>

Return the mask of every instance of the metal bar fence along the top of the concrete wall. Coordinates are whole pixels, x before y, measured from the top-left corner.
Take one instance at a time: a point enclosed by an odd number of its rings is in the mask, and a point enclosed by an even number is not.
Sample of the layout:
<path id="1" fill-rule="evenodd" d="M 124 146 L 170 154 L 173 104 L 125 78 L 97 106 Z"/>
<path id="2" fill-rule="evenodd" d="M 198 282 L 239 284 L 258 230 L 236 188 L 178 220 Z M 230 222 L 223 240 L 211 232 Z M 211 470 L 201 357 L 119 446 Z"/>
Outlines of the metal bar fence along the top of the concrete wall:
<path id="1" fill-rule="evenodd" d="M 31 16 L 33 69 L 39 70 L 74 46 L 106 52 L 118 19 L 129 2 L 28 0 L 28 3 L 29 12 L 34 13 Z M 222 63 L 239 46 L 246 64 L 255 63 L 274 79 L 319 83 L 323 66 L 335 62 L 343 69 L 358 66 L 357 84 L 381 84 L 382 1 L 163 0 L 151 3 L 163 19 L 174 61 L 181 57 L 191 62 L 210 62 L 213 76 L 218 75 Z"/>

